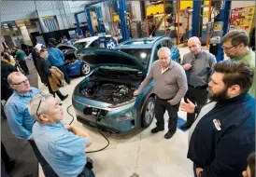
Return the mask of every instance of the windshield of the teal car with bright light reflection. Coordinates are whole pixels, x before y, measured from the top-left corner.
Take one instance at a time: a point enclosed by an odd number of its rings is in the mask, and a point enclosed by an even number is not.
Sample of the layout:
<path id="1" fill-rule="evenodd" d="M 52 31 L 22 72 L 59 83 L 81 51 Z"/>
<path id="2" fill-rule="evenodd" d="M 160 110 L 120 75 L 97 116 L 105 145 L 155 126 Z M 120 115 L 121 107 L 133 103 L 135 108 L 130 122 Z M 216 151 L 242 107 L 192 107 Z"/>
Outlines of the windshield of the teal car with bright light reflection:
<path id="1" fill-rule="evenodd" d="M 144 68 L 148 68 L 151 48 L 121 48 L 120 50 L 134 56 Z"/>

